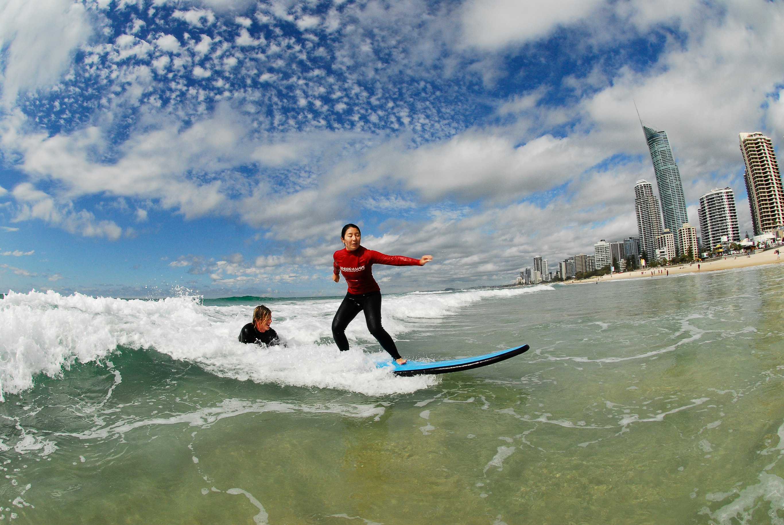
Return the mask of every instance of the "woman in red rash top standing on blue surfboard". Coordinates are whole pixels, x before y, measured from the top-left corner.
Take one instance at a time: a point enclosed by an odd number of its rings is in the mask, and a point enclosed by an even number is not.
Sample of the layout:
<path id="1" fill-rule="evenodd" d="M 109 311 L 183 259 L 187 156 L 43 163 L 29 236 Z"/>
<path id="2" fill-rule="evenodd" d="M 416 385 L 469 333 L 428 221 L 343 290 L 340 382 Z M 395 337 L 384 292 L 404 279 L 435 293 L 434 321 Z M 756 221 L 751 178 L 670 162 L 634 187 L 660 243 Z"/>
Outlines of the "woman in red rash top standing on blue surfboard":
<path id="1" fill-rule="evenodd" d="M 361 232 L 356 224 L 346 224 L 340 232 L 340 240 L 345 246 L 332 255 L 332 280 L 340 281 L 340 274 L 346 279 L 348 291 L 340 303 L 335 318 L 332 319 L 332 337 L 340 352 L 348 350 L 346 327 L 359 312 L 365 312 L 365 323 L 368 330 L 381 348 L 389 352 L 397 364 L 405 364 L 406 360 L 397 352 L 397 347 L 390 334 L 381 326 L 381 289 L 373 279 L 372 264 L 389 264 L 391 266 L 424 266 L 433 261 L 432 255 L 423 255 L 420 259 L 401 255 L 384 255 L 361 246 Z"/>

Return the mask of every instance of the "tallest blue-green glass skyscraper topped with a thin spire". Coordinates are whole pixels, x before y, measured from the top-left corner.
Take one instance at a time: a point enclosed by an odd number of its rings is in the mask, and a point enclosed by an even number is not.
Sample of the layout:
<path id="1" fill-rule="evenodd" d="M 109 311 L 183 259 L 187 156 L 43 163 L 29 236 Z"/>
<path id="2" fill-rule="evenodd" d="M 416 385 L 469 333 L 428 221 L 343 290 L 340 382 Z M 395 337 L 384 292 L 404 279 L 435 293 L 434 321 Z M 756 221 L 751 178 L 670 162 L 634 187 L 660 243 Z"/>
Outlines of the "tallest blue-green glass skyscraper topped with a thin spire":
<path id="1" fill-rule="evenodd" d="M 648 151 L 651 152 L 656 185 L 659 187 L 664 228 L 675 232 L 677 228 L 681 228 L 681 224 L 688 222 L 681 172 L 673 158 L 667 133 L 648 126 L 642 126 L 642 129 L 648 142 Z"/>

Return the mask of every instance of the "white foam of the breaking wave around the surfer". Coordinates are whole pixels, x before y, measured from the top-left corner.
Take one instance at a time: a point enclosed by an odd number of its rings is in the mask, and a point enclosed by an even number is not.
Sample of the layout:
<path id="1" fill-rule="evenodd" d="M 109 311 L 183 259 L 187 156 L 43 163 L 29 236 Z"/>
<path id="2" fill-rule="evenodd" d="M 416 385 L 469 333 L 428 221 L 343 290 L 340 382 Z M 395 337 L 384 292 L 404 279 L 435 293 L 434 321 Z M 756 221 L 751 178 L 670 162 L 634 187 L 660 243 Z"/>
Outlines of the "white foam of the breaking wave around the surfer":
<path id="1" fill-rule="evenodd" d="M 543 290 L 553 289 L 531 286 L 385 296 L 383 323 L 395 337 L 477 301 Z M 331 330 L 338 305 L 335 299 L 276 302 L 273 326 L 287 346 L 258 348 L 237 341 L 252 315 L 248 305 L 205 306 L 199 297 L 191 296 L 143 301 L 52 291 L 9 292 L 0 300 L 0 400 L 3 392 L 31 388 L 38 374 L 56 377 L 74 362 L 104 359 L 118 346 L 121 351 L 154 348 L 239 380 L 367 395 L 414 392 L 437 381 L 430 376 L 395 377 L 388 368 L 377 369 L 375 361 L 388 356 L 363 352 L 376 341 L 361 319 L 346 331 L 352 349 L 338 352 Z M 122 381 L 116 371 L 115 377 L 115 384 Z"/>

